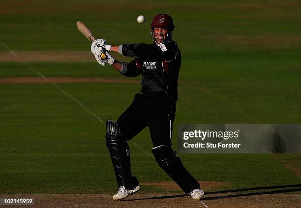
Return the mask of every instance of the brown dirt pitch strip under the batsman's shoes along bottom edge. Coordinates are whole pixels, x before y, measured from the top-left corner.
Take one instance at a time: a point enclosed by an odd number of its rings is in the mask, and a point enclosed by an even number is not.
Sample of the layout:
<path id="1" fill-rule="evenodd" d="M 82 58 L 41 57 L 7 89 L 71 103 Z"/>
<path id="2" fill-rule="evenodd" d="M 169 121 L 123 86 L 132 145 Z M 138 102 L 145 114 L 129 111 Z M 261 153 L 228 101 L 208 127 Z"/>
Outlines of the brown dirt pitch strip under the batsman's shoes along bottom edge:
<path id="1" fill-rule="evenodd" d="M 300 193 L 267 192 L 252 193 L 211 193 L 201 201 L 194 201 L 190 196 L 175 193 L 137 193 L 122 201 L 114 201 L 112 194 L 31 194 L 0 195 L 4 197 L 33 198 L 34 205 L 19 206 L 22 208 L 283 208 L 300 207 Z"/>

